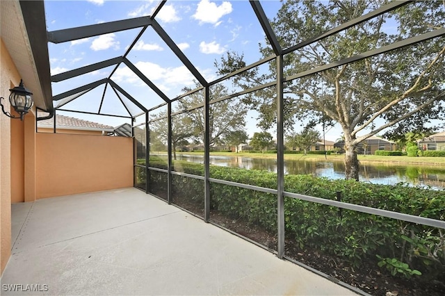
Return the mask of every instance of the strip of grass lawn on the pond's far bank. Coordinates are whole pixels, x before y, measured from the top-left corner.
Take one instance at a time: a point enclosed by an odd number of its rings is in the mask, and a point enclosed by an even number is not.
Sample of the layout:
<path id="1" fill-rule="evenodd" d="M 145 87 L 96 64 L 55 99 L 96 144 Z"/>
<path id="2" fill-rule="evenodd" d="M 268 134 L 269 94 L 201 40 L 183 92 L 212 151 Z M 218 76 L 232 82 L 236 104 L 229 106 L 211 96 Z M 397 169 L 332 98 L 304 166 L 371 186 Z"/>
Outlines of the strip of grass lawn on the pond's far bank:
<path id="1" fill-rule="evenodd" d="M 177 154 L 196 154 L 202 155 L 204 152 L 187 151 L 177 152 Z M 254 158 L 277 158 L 277 154 L 261 154 L 261 153 L 246 153 L 246 152 L 211 152 L 210 155 L 218 156 L 245 156 Z M 284 159 L 295 159 L 305 161 L 323 161 L 324 155 L 320 154 L 284 154 Z M 344 155 L 327 155 L 327 161 L 344 161 Z M 445 167 L 445 157 L 408 157 L 408 156 L 377 156 L 377 155 L 359 155 L 360 163 L 391 163 L 400 165 L 437 165 Z"/>

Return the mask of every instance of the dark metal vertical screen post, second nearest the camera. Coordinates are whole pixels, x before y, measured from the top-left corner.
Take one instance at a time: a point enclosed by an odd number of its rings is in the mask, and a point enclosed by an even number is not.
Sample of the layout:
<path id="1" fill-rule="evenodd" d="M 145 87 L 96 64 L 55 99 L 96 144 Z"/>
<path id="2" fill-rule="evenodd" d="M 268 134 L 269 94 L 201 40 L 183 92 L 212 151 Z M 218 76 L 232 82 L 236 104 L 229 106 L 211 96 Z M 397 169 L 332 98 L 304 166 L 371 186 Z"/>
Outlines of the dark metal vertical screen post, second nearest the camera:
<path id="1" fill-rule="evenodd" d="M 204 221 L 210 219 L 210 129 L 209 129 L 209 85 L 204 88 Z"/>

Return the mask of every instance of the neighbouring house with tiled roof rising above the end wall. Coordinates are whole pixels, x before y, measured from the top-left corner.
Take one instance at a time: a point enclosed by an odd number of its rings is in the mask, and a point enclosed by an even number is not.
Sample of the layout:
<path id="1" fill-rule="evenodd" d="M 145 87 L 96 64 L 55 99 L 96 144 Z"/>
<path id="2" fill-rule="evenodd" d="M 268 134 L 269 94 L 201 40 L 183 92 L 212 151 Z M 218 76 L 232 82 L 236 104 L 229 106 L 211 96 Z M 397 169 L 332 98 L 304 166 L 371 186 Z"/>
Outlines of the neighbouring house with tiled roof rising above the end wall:
<path id="1" fill-rule="evenodd" d="M 38 133 L 54 133 L 54 116 L 49 120 L 40 120 L 37 122 Z M 115 131 L 113 126 L 80 120 L 65 115 L 56 115 L 57 133 L 81 133 L 89 135 L 108 135 Z"/>

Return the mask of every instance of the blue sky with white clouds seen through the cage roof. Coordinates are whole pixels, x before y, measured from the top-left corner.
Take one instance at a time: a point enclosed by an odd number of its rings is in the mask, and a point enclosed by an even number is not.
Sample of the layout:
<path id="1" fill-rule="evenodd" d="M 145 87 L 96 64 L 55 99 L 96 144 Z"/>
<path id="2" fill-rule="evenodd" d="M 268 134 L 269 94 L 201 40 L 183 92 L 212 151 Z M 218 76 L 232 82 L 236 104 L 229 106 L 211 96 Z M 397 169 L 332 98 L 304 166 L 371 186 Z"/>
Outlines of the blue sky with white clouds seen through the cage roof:
<path id="1" fill-rule="evenodd" d="M 154 0 L 45 1 L 47 30 L 55 31 L 151 15 L 158 3 L 159 1 Z M 267 17 L 272 19 L 277 14 L 281 3 L 280 1 L 261 1 L 261 5 Z M 261 58 L 259 43 L 264 44 L 265 36 L 248 1 L 169 0 L 156 16 L 156 20 L 207 81 L 218 77 L 213 63 L 215 60 L 220 60 L 220 57 L 228 50 L 243 53 L 247 64 Z M 49 43 L 51 74 L 122 56 L 139 32 L 140 28 L 136 28 L 63 44 Z M 172 54 L 151 27 L 145 31 L 127 58 L 170 99 L 181 94 L 181 89 L 184 87 L 194 88 L 193 75 Z M 113 68 L 114 66 L 53 83 L 53 94 L 104 79 Z M 112 79 L 147 108 L 163 103 L 163 100 L 126 66 L 119 67 Z M 97 112 L 103 92 L 103 88 L 96 88 L 68 103 L 64 108 Z M 111 89 L 106 90 L 105 98 L 102 112 L 111 113 L 119 109 L 120 115 L 127 115 L 127 111 L 122 108 L 118 97 Z M 131 112 L 138 110 L 129 101 L 126 103 Z M 63 114 L 113 126 L 129 122 L 115 117 L 98 117 L 79 113 Z M 250 135 L 254 131 L 259 131 L 256 127 L 256 117 L 256 113 L 248 113 L 246 129 Z M 270 131 L 273 132 L 273 130 Z M 339 134 L 339 129 L 334 128 L 330 130 L 326 138 L 335 140 L 339 138 Z"/>

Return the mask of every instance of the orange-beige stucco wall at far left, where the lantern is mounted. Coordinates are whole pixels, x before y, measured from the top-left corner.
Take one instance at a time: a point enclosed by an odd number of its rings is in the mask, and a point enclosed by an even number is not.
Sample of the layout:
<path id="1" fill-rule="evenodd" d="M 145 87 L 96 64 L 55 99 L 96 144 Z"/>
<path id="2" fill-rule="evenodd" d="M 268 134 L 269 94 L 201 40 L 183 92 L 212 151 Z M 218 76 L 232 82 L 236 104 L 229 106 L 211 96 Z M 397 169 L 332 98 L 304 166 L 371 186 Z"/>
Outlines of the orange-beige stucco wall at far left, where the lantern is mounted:
<path id="1" fill-rule="evenodd" d="M 20 76 L 0 39 L 0 97 L 6 111 L 9 106 L 9 89 L 18 85 Z M 11 136 L 10 118 L 0 113 L 0 273 L 8 263 L 11 254 Z"/>

